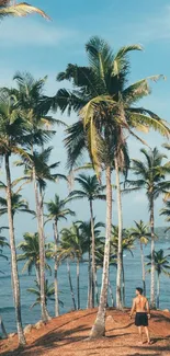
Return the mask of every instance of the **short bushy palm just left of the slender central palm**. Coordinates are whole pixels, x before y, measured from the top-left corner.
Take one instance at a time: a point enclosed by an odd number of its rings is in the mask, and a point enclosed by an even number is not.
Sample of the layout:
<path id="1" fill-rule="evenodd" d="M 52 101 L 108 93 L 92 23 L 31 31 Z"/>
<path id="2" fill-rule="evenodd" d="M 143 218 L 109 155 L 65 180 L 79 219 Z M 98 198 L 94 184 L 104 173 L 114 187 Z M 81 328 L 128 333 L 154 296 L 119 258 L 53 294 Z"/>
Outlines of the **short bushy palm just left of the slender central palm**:
<path id="1" fill-rule="evenodd" d="M 70 229 L 61 230 L 61 249 L 66 256 L 72 255 L 77 261 L 77 309 L 80 309 L 80 262 L 88 252 L 89 241 L 82 234 L 79 226 L 72 222 Z"/>

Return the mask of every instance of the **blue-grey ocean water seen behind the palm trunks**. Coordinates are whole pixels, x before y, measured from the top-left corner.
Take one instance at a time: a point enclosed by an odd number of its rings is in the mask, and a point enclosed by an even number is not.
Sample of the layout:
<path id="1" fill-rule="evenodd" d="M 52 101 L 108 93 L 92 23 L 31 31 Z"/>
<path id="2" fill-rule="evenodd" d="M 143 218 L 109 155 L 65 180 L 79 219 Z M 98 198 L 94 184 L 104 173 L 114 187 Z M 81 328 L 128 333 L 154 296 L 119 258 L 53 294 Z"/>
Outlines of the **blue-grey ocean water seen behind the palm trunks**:
<path id="1" fill-rule="evenodd" d="M 156 250 L 163 249 L 165 254 L 170 253 L 170 238 L 165 237 L 156 241 Z M 150 253 L 150 244 L 144 248 L 145 255 Z M 9 255 L 9 250 L 3 250 L 3 253 Z M 126 306 L 131 307 L 132 299 L 135 295 L 135 288 L 141 285 L 141 265 L 140 265 L 140 252 L 139 246 L 136 244 L 133 251 L 134 257 L 127 251 L 124 253 L 124 266 L 125 266 L 125 287 L 126 287 Z M 4 326 L 8 333 L 15 332 L 15 315 L 13 308 L 13 298 L 11 289 L 11 275 L 10 275 L 10 262 L 0 257 L 0 315 L 3 319 Z M 53 268 L 53 261 L 50 263 Z M 29 287 L 34 287 L 35 275 L 29 276 L 26 273 L 22 274 L 23 263 L 19 263 L 20 283 L 21 283 L 21 302 L 22 302 L 22 320 L 23 325 L 34 324 L 41 319 L 41 308 L 36 306 L 30 309 L 31 305 L 35 301 L 35 296 L 27 292 Z M 98 271 L 98 284 L 101 286 L 101 273 Z M 71 263 L 71 277 L 72 285 L 76 295 L 76 263 Z M 47 278 L 49 283 L 53 283 L 53 275 L 47 272 Z M 110 280 L 112 285 L 113 295 L 115 298 L 115 278 L 116 269 L 111 267 Z M 149 280 L 150 275 L 146 275 L 147 296 L 149 298 Z M 160 279 L 160 309 L 170 309 L 170 279 L 167 276 L 161 275 Z M 58 284 L 59 284 L 59 299 L 64 302 L 64 307 L 60 307 L 60 313 L 66 313 L 72 310 L 72 300 L 70 296 L 68 275 L 66 264 L 59 266 L 58 271 Z M 88 263 L 81 263 L 80 265 L 80 305 L 81 309 L 87 308 L 87 295 L 88 295 Z M 109 296 L 109 301 L 110 296 Z M 48 311 L 50 315 L 54 315 L 54 301 L 48 302 Z"/>

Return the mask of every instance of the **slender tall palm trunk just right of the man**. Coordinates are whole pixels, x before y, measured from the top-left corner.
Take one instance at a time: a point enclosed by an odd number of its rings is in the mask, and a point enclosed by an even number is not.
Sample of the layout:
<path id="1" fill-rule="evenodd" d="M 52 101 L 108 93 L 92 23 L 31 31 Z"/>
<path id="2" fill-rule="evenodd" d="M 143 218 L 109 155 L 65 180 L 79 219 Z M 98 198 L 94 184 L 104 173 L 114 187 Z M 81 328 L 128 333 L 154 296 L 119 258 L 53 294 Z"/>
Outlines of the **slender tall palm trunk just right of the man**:
<path id="1" fill-rule="evenodd" d="M 150 234 L 151 234 L 151 280 L 150 280 L 150 308 L 156 308 L 155 300 L 155 226 L 154 226 L 154 198 L 150 199 Z"/>

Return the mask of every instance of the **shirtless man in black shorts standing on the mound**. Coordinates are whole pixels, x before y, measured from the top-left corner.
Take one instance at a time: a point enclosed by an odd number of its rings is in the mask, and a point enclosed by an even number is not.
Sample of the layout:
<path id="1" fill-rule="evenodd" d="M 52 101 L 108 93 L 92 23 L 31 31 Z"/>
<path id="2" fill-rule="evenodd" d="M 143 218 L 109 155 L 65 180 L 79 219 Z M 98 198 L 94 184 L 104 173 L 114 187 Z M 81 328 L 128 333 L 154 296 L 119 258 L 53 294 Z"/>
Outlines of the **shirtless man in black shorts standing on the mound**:
<path id="1" fill-rule="evenodd" d="M 150 344 L 150 335 L 148 330 L 148 319 L 150 319 L 149 302 L 146 297 L 143 296 L 143 288 L 136 288 L 136 298 L 133 300 L 133 307 L 129 317 L 132 318 L 136 310 L 135 325 L 138 328 L 140 343 L 143 342 L 143 326 L 145 328 L 148 344 Z"/>

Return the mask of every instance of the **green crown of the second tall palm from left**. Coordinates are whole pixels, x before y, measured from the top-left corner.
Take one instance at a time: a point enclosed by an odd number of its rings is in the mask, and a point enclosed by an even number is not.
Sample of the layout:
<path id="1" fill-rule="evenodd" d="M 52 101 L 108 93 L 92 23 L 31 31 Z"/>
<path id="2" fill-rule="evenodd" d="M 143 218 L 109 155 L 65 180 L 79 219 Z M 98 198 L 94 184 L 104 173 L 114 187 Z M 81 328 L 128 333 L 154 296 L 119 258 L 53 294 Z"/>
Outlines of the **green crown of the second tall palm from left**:
<path id="1" fill-rule="evenodd" d="M 49 107 L 44 105 L 44 88 L 47 77 L 34 79 L 29 72 L 16 72 L 14 78 L 16 89 L 12 89 L 12 94 L 16 97 L 18 108 L 24 112 L 27 122 L 27 148 L 33 145 L 42 146 L 55 135 L 54 125 L 66 124 L 59 119 L 48 116 Z M 3 88 L 2 94 L 8 95 L 9 89 Z"/>

